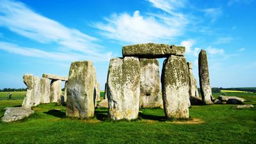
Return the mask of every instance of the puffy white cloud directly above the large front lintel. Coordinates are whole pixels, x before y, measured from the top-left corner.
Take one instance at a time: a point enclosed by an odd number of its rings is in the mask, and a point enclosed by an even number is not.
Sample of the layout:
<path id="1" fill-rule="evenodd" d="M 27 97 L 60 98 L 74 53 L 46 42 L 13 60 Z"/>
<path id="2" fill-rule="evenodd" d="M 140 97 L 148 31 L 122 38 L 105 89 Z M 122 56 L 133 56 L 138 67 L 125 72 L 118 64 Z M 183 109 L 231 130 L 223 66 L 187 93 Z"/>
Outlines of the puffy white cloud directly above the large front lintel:
<path id="1" fill-rule="evenodd" d="M 158 22 L 153 16 L 143 17 L 139 11 L 113 14 L 106 18 L 107 23 L 98 22 L 93 26 L 102 31 L 108 38 L 129 43 L 145 43 L 166 40 L 179 35 L 181 29 L 166 24 L 163 20 Z"/>

